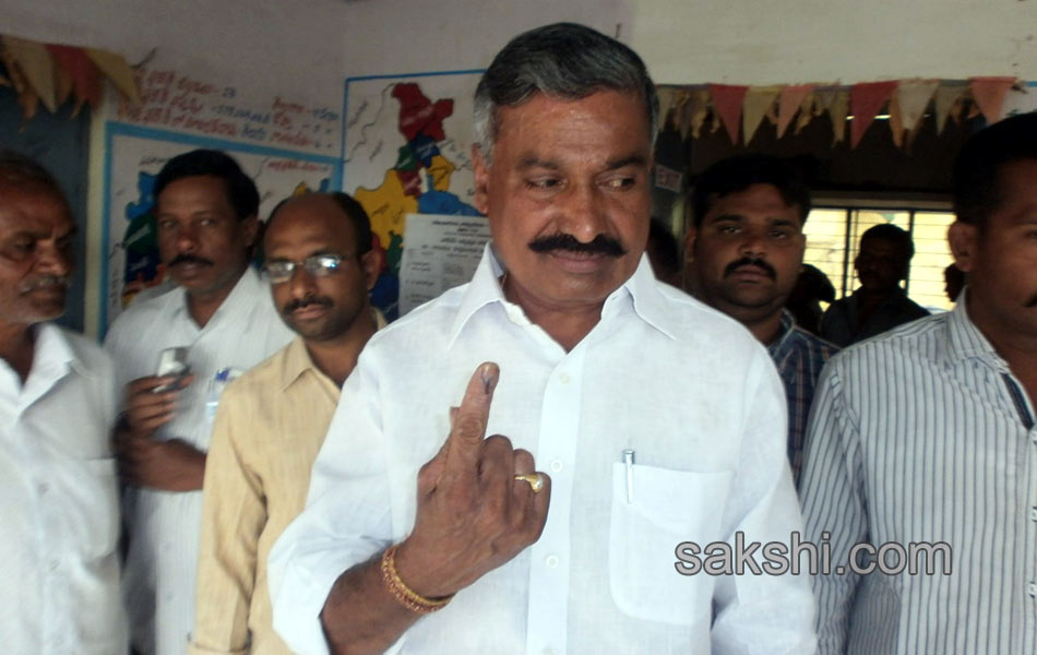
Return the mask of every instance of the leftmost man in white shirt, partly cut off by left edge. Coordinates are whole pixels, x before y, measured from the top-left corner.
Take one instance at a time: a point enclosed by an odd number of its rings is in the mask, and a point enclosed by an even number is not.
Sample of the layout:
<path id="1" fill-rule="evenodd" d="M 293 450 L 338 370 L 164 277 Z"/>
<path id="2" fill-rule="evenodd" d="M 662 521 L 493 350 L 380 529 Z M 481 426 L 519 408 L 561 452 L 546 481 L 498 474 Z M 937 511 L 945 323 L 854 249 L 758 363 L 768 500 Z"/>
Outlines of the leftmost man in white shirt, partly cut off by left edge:
<path id="1" fill-rule="evenodd" d="M 111 364 L 49 323 L 64 311 L 75 224 L 38 164 L 0 152 L 0 644 L 127 650 Z"/>

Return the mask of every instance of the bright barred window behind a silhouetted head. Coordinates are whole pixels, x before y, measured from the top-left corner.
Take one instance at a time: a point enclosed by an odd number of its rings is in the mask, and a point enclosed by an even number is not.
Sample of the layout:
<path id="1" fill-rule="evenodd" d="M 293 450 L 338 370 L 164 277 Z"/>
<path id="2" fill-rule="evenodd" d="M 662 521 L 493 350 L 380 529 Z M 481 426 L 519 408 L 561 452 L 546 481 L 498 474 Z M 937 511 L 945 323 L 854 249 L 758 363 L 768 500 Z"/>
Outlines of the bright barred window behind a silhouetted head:
<path id="1" fill-rule="evenodd" d="M 854 259 L 865 230 L 892 223 L 911 234 L 915 257 L 910 262 L 908 296 L 929 309 L 951 309 L 943 289 L 943 270 L 954 261 L 947 246 L 947 227 L 954 222 L 950 204 L 940 200 L 917 201 L 817 199 L 803 234 L 803 261 L 824 272 L 835 286 L 836 297 L 857 288 Z"/>

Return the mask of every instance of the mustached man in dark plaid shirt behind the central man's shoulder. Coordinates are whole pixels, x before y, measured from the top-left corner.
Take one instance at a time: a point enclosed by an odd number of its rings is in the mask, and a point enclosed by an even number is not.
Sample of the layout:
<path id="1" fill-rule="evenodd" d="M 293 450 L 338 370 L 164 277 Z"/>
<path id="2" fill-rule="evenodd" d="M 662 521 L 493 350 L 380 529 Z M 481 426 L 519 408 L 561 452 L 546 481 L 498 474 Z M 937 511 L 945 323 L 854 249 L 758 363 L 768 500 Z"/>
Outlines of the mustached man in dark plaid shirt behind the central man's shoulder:
<path id="1" fill-rule="evenodd" d="M 838 348 L 796 325 L 785 301 L 803 263 L 810 191 L 780 160 L 724 159 L 695 182 L 684 251 L 700 300 L 767 347 L 788 401 L 788 461 L 799 486 L 803 434 L 821 367 Z"/>

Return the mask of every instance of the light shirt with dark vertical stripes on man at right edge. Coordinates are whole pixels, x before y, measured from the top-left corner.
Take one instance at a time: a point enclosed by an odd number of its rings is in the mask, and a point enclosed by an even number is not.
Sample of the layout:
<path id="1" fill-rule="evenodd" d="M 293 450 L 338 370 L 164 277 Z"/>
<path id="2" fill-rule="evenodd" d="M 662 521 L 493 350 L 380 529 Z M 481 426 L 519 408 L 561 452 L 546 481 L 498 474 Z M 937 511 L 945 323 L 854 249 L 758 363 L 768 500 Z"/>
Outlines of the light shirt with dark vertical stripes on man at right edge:
<path id="1" fill-rule="evenodd" d="M 1037 430 L 965 302 L 836 355 L 819 381 L 807 537 L 945 541 L 934 574 L 819 575 L 822 653 L 1037 651 Z M 887 560 L 894 563 L 895 558 Z"/>

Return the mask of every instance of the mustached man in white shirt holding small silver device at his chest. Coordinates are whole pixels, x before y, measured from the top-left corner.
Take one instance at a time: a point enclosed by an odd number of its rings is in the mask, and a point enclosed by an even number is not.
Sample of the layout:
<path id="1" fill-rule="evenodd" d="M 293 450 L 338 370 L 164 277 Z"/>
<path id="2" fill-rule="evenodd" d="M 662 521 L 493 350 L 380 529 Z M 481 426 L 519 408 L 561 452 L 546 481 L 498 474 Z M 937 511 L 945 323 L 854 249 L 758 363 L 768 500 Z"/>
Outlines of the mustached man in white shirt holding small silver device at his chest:
<path id="1" fill-rule="evenodd" d="M 219 394 L 293 333 L 249 266 L 259 193 L 234 159 L 216 151 L 174 157 L 155 198 L 159 255 L 177 287 L 130 306 L 105 347 L 127 390 L 119 443 L 133 487 L 124 499 L 131 639 L 140 653 L 181 655 L 194 620 L 201 488 Z M 170 347 L 188 348 L 190 377 L 154 376 Z"/>

